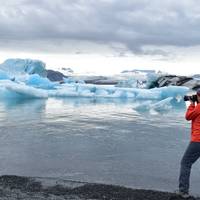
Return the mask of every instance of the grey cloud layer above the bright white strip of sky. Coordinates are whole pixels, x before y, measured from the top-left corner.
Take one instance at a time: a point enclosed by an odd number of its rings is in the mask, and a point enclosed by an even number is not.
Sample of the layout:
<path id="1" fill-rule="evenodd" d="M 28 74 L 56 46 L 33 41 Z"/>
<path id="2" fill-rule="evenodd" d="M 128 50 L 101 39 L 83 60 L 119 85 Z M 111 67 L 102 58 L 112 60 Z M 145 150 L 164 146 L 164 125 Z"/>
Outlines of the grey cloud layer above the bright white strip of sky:
<path id="1" fill-rule="evenodd" d="M 121 54 L 166 55 L 165 46 L 200 45 L 198 0 L 0 1 L 1 49 L 64 53 L 72 40 L 75 52 L 121 44 Z"/>

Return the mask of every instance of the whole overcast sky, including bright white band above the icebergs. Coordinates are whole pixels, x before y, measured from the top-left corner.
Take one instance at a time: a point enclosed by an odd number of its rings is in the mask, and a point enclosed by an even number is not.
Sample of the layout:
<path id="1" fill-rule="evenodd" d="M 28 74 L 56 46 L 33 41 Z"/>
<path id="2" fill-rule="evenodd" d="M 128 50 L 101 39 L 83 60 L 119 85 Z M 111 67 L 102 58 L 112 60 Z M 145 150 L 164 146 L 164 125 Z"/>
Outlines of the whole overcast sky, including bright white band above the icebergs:
<path id="1" fill-rule="evenodd" d="M 200 73 L 198 0 L 0 0 L 0 61 Z"/>

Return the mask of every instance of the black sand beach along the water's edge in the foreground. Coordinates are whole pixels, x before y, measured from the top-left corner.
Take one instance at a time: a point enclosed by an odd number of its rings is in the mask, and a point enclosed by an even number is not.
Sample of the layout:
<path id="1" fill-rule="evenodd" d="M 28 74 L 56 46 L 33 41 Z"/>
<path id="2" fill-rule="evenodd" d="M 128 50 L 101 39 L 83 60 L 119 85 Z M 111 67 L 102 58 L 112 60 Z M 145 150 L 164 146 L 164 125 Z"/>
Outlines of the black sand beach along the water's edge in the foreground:
<path id="1" fill-rule="evenodd" d="M 0 177 L 1 200 L 181 200 L 168 192 L 131 189 L 54 178 Z M 193 197 L 190 200 L 195 199 Z"/>

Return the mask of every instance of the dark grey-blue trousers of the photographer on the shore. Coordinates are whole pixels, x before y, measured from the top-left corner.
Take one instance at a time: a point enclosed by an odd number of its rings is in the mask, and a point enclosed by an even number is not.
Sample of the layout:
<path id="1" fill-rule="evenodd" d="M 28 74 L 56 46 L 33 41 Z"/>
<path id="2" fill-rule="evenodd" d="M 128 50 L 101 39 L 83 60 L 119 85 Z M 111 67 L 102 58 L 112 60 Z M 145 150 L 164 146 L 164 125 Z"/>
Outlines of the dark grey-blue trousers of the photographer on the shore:
<path id="1" fill-rule="evenodd" d="M 181 160 L 181 170 L 179 176 L 179 190 L 189 192 L 190 172 L 194 162 L 200 157 L 200 142 L 191 142 Z"/>

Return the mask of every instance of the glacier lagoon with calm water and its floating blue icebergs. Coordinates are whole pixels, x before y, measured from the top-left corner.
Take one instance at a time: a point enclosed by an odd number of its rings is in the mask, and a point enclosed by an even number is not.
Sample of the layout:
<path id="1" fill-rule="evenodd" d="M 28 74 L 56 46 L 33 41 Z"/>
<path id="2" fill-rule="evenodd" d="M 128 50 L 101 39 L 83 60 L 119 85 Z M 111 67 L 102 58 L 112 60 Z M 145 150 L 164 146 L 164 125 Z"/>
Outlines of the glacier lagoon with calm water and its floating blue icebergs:
<path id="1" fill-rule="evenodd" d="M 190 139 L 188 91 L 60 84 L 45 77 L 44 63 L 8 60 L 0 65 L 0 173 L 173 191 Z M 199 193 L 195 174 L 199 163 L 191 177 Z"/>

